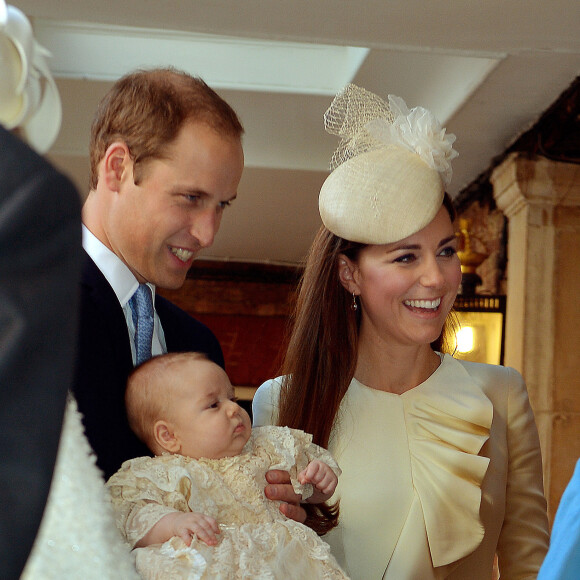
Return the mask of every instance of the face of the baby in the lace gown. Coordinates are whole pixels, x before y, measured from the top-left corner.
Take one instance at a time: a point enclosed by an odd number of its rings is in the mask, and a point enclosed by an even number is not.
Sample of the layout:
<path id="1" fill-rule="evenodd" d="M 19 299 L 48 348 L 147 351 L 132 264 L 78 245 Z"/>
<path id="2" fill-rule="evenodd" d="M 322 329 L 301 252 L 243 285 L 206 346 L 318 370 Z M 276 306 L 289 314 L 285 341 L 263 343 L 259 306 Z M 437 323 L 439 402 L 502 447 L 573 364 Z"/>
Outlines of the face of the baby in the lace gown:
<path id="1" fill-rule="evenodd" d="M 252 425 L 236 403 L 225 371 L 212 362 L 193 360 L 180 365 L 173 380 L 181 384 L 172 399 L 179 453 L 195 459 L 239 455 Z"/>

